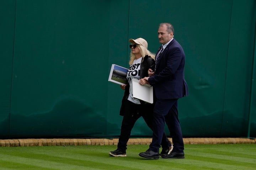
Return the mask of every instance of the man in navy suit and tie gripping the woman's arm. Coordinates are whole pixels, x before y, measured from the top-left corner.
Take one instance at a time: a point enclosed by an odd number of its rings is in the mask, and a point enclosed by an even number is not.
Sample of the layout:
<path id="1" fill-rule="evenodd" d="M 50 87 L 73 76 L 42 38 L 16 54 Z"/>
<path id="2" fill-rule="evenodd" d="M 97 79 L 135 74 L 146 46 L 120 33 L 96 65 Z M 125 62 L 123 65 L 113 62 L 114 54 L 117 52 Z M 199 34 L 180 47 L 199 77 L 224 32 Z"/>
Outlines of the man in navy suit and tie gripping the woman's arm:
<path id="1" fill-rule="evenodd" d="M 181 45 L 173 38 L 174 28 L 170 23 L 161 23 L 158 29 L 162 44 L 156 55 L 155 70 L 149 69 L 149 76 L 140 79 L 140 84 L 154 87 L 156 96 L 154 107 L 153 138 L 149 149 L 139 155 L 149 159 L 159 159 L 159 148 L 164 133 L 165 122 L 170 131 L 174 148 L 162 158 L 185 158 L 184 143 L 178 119 L 178 99 L 188 95 L 184 79 L 185 54 Z"/>

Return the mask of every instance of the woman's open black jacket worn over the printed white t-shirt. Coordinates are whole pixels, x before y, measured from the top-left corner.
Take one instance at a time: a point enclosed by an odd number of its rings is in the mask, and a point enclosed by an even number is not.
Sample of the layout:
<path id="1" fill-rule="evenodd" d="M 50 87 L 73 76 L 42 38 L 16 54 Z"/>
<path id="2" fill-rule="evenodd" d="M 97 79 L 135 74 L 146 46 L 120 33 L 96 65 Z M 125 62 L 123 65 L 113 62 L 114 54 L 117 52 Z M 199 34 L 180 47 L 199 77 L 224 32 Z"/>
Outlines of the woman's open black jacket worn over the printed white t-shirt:
<path id="1" fill-rule="evenodd" d="M 140 78 L 144 78 L 144 77 L 148 77 L 148 69 L 152 69 L 155 70 L 155 60 L 153 58 L 151 58 L 150 56 L 146 55 L 145 57 L 143 57 L 141 65 L 140 65 Z M 128 82 L 128 81 L 126 81 Z M 120 115 L 123 116 L 124 115 L 124 106 L 127 102 L 127 99 L 129 97 L 130 94 L 130 85 L 129 83 L 127 83 L 126 89 L 124 91 L 124 96 L 122 99 L 122 104 L 121 104 L 121 108 L 120 108 Z M 145 102 L 140 100 L 140 103 L 143 104 Z"/>

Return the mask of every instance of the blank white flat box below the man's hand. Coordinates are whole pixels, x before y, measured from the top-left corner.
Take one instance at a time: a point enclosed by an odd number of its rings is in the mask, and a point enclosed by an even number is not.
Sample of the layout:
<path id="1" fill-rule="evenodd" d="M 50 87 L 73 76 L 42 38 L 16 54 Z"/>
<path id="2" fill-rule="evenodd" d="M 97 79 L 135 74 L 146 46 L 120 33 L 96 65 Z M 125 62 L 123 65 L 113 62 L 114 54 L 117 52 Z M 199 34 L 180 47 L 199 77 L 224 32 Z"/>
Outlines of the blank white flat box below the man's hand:
<path id="1" fill-rule="evenodd" d="M 138 98 L 148 103 L 153 103 L 153 86 L 148 84 L 140 85 L 139 80 L 132 79 L 132 97 Z"/>

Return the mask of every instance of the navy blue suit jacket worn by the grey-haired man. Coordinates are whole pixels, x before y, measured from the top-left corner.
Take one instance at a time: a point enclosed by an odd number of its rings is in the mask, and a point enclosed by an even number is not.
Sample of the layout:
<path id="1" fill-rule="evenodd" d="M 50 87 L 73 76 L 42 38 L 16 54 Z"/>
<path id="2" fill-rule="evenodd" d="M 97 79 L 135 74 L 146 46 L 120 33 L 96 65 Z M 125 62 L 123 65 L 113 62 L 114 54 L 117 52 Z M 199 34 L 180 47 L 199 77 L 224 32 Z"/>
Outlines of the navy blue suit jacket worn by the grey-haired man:
<path id="1" fill-rule="evenodd" d="M 162 51 L 155 68 L 155 75 L 148 79 L 149 84 L 154 86 L 157 99 L 177 99 L 188 95 L 184 66 L 184 51 L 181 45 L 173 39 Z"/>

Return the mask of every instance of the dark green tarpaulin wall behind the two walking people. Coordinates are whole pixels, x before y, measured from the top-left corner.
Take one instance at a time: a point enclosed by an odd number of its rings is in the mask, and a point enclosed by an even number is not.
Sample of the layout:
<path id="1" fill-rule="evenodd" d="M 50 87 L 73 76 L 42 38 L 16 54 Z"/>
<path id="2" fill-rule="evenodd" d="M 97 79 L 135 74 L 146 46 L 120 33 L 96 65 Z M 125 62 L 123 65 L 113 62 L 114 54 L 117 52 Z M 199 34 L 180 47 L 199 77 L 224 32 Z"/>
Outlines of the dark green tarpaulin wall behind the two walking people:
<path id="1" fill-rule="evenodd" d="M 1 0 L 0 138 L 116 137 L 128 40 L 160 46 L 170 22 L 186 54 L 183 137 L 256 137 L 255 0 Z M 167 128 L 166 128 L 167 129 Z M 132 137 L 151 137 L 143 119 Z"/>

